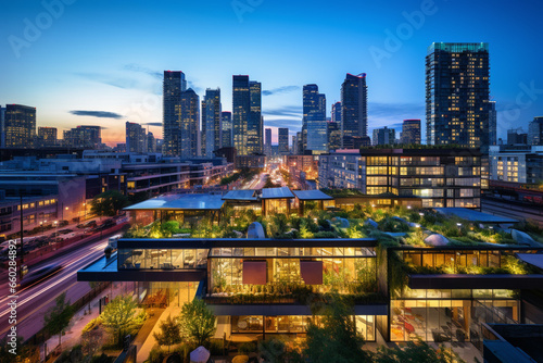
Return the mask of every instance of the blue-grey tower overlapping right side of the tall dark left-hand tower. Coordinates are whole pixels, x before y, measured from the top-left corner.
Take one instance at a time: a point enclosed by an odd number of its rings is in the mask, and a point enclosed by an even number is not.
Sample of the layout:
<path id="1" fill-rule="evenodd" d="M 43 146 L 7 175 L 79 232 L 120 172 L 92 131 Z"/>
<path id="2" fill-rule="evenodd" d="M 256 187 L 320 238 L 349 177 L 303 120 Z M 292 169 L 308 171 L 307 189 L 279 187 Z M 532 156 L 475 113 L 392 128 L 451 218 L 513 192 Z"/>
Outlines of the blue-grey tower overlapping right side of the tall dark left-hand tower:
<path id="1" fill-rule="evenodd" d="M 179 120 L 179 149 L 175 155 L 181 158 L 194 158 L 201 153 L 200 149 L 200 98 L 189 88 L 181 92 L 181 101 L 176 107 Z"/>

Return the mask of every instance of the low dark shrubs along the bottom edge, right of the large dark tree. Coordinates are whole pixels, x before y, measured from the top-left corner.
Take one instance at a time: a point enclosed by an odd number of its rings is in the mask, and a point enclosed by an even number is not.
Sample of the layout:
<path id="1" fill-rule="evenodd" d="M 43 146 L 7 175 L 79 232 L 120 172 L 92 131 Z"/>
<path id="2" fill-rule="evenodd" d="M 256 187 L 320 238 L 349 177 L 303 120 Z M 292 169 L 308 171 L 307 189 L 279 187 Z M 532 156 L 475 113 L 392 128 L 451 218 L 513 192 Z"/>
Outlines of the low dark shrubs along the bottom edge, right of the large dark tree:
<path id="1" fill-rule="evenodd" d="M 444 348 L 434 350 L 422 340 L 407 342 L 407 347 L 379 347 L 375 363 L 466 363 L 455 352 Z"/>

